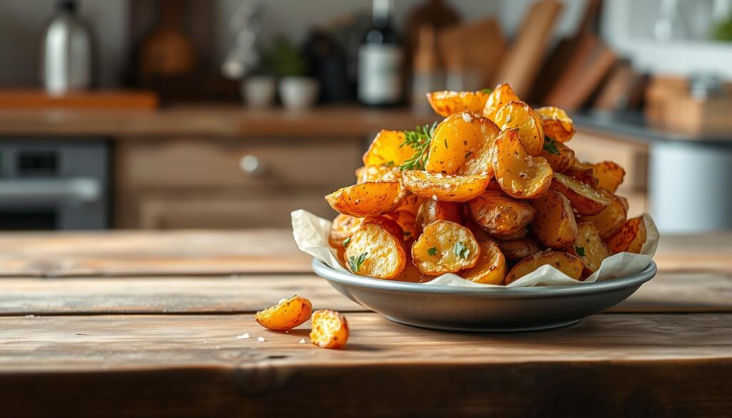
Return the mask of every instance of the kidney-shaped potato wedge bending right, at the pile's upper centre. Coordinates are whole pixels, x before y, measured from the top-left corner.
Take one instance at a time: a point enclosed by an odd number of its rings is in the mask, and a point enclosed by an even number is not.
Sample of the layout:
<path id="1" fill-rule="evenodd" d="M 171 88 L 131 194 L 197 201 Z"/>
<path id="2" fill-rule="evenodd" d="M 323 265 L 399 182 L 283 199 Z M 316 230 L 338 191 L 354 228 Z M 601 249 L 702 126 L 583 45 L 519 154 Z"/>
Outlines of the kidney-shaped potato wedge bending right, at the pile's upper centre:
<path id="1" fill-rule="evenodd" d="M 493 171 L 501 190 L 519 199 L 538 198 L 546 193 L 552 181 L 549 163 L 542 157 L 531 157 L 518 140 L 518 130 L 501 132 L 493 152 Z"/>

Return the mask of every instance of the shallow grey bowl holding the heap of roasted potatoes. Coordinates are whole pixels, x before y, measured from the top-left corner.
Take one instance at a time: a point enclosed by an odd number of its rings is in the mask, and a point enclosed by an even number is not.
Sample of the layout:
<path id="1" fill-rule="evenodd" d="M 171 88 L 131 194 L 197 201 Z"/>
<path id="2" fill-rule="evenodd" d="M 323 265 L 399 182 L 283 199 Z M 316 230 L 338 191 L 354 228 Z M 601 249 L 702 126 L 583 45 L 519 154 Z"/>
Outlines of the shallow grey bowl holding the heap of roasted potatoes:
<path id="1" fill-rule="evenodd" d="M 642 272 L 584 285 L 460 288 L 403 283 L 337 272 L 318 260 L 313 271 L 357 304 L 400 324 L 462 332 L 521 332 L 576 324 L 632 295 L 656 275 Z"/>

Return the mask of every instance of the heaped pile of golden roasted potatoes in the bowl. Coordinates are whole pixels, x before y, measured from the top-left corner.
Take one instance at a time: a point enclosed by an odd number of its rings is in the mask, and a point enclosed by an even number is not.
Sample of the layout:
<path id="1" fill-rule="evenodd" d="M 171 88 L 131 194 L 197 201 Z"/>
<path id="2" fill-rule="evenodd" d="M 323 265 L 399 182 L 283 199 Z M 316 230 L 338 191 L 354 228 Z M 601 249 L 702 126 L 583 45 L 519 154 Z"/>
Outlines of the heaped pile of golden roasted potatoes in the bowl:
<path id="1" fill-rule="evenodd" d="M 427 100 L 445 119 L 422 149 L 382 130 L 356 184 L 326 196 L 340 212 L 329 243 L 351 272 L 508 284 L 551 264 L 583 280 L 604 258 L 641 251 L 643 219 L 627 219 L 627 199 L 615 194 L 625 171 L 578 161 L 567 113 L 533 109 L 508 84 Z M 424 167 L 406 169 L 416 152 Z"/>

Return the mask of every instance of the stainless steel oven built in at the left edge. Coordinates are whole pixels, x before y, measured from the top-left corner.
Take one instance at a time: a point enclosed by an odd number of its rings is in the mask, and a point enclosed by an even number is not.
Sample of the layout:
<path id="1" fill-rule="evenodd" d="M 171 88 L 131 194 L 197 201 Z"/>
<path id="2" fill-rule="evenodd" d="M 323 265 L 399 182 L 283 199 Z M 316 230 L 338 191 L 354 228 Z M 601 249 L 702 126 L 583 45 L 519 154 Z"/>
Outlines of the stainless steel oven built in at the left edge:
<path id="1" fill-rule="evenodd" d="M 0 230 L 109 227 L 108 141 L 0 138 Z"/>

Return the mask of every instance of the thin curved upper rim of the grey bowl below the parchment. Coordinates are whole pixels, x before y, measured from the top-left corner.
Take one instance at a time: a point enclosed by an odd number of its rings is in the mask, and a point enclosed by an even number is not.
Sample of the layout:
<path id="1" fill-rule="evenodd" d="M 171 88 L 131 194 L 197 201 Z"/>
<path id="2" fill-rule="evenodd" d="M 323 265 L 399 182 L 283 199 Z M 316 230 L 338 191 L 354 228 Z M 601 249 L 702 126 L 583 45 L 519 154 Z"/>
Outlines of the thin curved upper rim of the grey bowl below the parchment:
<path id="1" fill-rule="evenodd" d="M 480 296 L 480 297 L 544 297 L 544 296 L 581 296 L 586 294 L 598 294 L 605 292 L 618 291 L 629 288 L 633 285 L 640 286 L 651 280 L 657 273 L 658 268 L 654 261 L 651 260 L 648 266 L 640 272 L 624 277 L 616 277 L 596 281 L 594 283 L 584 283 L 580 285 L 545 285 L 545 286 L 529 286 L 529 287 L 461 287 L 447 285 L 425 285 L 423 283 L 398 282 L 395 280 L 381 280 L 372 277 L 364 277 L 354 275 L 350 272 L 339 272 L 332 269 L 324 262 L 313 258 L 313 272 L 316 275 L 324 277 L 330 282 L 340 285 L 357 286 L 359 288 L 369 288 L 371 290 L 380 291 L 396 291 L 403 293 L 417 294 L 450 294 L 460 296 Z"/>

